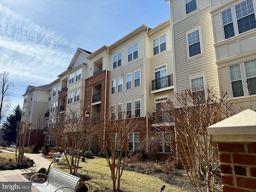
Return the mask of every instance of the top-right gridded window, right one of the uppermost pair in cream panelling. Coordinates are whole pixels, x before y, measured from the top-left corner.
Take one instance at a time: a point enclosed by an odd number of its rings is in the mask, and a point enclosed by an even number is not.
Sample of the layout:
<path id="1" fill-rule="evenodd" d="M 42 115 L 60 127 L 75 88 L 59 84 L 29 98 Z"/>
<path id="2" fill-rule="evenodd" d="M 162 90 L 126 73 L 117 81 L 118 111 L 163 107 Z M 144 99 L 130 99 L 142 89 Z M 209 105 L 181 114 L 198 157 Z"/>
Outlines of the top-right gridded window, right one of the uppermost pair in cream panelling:
<path id="1" fill-rule="evenodd" d="M 238 32 L 243 33 L 256 28 L 252 0 L 246 0 L 235 6 Z"/>

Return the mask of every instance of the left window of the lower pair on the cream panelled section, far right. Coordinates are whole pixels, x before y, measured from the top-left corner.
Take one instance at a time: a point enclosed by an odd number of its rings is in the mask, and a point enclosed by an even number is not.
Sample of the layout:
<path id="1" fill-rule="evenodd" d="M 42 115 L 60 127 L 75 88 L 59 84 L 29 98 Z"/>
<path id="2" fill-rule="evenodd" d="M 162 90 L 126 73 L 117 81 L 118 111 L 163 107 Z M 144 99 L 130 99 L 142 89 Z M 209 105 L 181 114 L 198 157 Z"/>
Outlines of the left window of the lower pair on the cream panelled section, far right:
<path id="1" fill-rule="evenodd" d="M 238 64 L 230 65 L 229 73 L 230 73 L 233 97 L 244 96 L 240 64 L 238 63 Z"/>

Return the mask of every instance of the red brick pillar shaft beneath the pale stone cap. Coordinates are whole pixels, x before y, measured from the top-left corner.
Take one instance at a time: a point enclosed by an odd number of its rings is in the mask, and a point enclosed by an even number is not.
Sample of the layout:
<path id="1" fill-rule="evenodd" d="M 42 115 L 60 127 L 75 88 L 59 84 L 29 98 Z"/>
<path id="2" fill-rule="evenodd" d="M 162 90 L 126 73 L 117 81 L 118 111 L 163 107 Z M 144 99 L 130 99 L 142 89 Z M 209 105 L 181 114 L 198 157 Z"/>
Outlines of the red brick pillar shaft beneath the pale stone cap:
<path id="1" fill-rule="evenodd" d="M 223 192 L 256 191 L 256 142 L 219 142 Z"/>

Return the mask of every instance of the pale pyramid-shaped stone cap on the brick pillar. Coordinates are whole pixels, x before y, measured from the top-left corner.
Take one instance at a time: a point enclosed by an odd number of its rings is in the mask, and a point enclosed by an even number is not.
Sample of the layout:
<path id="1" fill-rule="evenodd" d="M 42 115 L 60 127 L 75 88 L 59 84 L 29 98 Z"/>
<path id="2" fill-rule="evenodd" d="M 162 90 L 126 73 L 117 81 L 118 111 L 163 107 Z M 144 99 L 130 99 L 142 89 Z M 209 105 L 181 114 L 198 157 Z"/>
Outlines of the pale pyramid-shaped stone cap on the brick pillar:
<path id="1" fill-rule="evenodd" d="M 208 127 L 216 142 L 256 142 L 256 112 L 246 109 Z"/>

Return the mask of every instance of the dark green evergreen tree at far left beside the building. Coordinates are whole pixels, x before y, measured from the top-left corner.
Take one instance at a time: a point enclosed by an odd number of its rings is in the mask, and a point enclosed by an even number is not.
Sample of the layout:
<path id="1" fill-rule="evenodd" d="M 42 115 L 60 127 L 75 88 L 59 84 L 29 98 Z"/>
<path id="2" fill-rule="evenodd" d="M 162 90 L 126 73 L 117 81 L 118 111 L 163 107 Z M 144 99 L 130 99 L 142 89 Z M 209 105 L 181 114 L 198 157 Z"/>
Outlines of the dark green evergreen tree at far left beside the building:
<path id="1" fill-rule="evenodd" d="M 3 124 L 4 138 L 6 141 L 16 142 L 17 122 L 20 121 L 21 115 L 22 110 L 18 104 L 18 106 L 12 110 L 12 114 L 9 114 L 9 116 L 6 118 L 6 121 Z"/>

